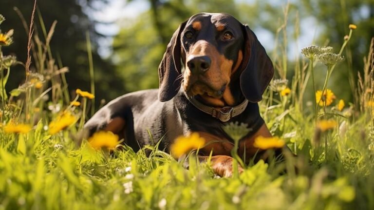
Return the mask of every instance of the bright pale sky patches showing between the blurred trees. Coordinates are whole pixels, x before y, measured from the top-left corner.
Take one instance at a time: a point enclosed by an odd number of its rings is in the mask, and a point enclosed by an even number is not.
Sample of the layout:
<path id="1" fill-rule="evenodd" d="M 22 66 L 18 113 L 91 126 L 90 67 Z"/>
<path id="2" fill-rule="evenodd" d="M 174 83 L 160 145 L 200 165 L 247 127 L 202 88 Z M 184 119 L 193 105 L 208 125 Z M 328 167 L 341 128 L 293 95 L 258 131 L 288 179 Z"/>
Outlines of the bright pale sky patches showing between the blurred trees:
<path id="1" fill-rule="evenodd" d="M 255 0 L 237 0 L 238 2 L 249 2 L 253 3 Z M 269 0 L 274 1 L 274 3 L 280 4 L 282 3 L 277 0 Z M 291 0 L 292 1 L 292 0 Z M 281 1 L 283 2 L 283 1 Z M 283 2 L 284 5 L 286 1 Z M 102 10 L 91 12 L 91 16 L 93 19 L 97 19 L 104 22 L 114 22 L 115 24 L 97 24 L 96 30 L 99 33 L 108 36 L 116 35 L 121 25 L 121 20 L 124 19 L 134 19 L 142 12 L 149 9 L 149 3 L 147 0 L 134 0 L 131 2 L 126 2 L 126 0 L 112 0 L 109 5 L 104 7 Z M 280 7 L 281 9 L 281 7 Z M 300 36 L 297 42 L 289 43 L 288 49 L 288 57 L 290 59 L 295 58 L 300 54 L 301 48 L 307 47 L 313 44 L 313 40 L 322 31 L 322 26 L 318 26 L 317 21 L 313 17 L 307 17 L 300 20 Z M 311 29 L 313 29 L 313 33 L 311 33 Z M 257 35 L 259 41 L 265 47 L 267 51 L 271 51 L 274 47 L 274 36 L 271 32 L 262 29 L 262 28 L 255 28 L 253 29 L 255 34 Z M 171 35 L 170 35 L 171 36 Z M 102 57 L 108 57 L 111 55 L 112 49 L 112 38 L 104 38 L 100 40 L 101 46 L 99 47 L 99 54 Z"/>

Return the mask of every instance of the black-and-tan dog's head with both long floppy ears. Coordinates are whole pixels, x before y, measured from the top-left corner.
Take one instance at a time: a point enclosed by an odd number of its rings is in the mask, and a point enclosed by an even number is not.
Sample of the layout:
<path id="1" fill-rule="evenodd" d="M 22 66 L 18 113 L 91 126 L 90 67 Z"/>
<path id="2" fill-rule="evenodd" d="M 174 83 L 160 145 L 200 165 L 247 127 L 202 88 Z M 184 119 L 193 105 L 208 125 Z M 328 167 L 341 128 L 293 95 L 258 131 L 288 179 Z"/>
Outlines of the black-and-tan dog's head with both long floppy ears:
<path id="1" fill-rule="evenodd" d="M 170 100 L 182 85 L 187 96 L 217 107 L 233 106 L 243 97 L 260 101 L 274 74 L 256 35 L 223 13 L 200 13 L 183 22 L 158 71 L 160 101 Z"/>

